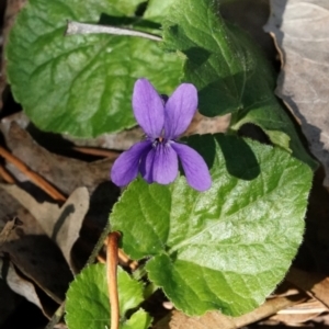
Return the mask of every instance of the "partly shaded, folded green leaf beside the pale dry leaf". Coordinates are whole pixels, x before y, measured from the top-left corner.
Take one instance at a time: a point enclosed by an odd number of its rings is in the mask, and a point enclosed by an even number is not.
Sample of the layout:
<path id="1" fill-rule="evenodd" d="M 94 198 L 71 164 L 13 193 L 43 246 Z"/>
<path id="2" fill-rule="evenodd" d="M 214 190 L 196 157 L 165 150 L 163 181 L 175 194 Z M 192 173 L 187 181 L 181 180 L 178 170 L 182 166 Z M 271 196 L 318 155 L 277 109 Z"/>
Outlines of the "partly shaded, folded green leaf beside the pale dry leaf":
<path id="1" fill-rule="evenodd" d="M 316 168 L 274 95 L 275 75 L 253 42 L 222 19 L 216 1 L 175 1 L 163 38 L 168 49 L 186 56 L 183 79 L 197 87 L 202 114 L 232 113 L 232 129 L 259 125 L 273 144 Z"/>

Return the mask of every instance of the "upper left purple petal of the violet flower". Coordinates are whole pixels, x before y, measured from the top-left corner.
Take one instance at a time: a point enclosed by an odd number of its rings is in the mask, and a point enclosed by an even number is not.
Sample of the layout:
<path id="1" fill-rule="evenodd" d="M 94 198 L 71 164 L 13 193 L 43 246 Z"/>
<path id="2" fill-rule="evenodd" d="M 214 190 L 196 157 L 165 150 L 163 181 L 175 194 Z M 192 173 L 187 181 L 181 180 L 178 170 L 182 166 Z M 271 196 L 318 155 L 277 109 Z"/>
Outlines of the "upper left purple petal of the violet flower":
<path id="1" fill-rule="evenodd" d="M 135 82 L 133 109 L 138 124 L 149 137 L 161 136 L 164 123 L 163 101 L 147 79 Z"/>

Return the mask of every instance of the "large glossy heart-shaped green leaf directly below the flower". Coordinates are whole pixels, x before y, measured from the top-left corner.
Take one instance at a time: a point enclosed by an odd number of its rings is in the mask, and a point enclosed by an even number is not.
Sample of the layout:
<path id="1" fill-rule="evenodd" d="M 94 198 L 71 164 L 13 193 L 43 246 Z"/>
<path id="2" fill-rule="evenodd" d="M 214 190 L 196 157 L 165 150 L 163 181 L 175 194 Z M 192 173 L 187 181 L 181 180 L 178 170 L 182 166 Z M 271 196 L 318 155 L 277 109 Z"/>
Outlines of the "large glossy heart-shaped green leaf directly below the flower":
<path id="1" fill-rule="evenodd" d="M 302 241 L 311 171 L 280 148 L 222 135 L 189 138 L 211 168 L 200 193 L 137 179 L 110 222 L 149 279 L 189 315 L 237 316 L 282 281 Z"/>

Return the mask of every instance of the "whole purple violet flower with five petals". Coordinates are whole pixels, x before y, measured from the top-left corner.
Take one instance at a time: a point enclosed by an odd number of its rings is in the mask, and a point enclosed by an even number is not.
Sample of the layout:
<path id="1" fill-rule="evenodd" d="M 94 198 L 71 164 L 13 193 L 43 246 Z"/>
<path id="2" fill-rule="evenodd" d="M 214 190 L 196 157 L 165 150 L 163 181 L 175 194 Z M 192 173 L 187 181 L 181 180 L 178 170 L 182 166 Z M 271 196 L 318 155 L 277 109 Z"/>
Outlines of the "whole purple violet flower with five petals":
<path id="1" fill-rule="evenodd" d="M 193 84 L 180 84 L 166 101 L 147 79 L 138 79 L 133 110 L 146 140 L 136 143 L 116 159 L 112 181 L 123 186 L 140 172 L 148 183 L 169 184 L 178 175 L 179 158 L 188 183 L 197 191 L 208 190 L 212 178 L 204 159 L 191 147 L 177 143 L 196 109 L 197 92 Z"/>

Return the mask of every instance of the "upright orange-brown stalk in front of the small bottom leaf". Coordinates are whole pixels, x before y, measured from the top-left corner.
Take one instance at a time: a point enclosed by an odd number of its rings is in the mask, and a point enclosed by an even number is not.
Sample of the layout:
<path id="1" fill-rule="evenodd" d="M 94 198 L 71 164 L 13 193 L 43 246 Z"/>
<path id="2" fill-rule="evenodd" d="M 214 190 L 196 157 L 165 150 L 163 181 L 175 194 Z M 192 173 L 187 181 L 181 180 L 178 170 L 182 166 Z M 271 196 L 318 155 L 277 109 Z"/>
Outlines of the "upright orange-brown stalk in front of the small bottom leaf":
<path id="1" fill-rule="evenodd" d="M 118 329 L 120 309 L 117 294 L 117 243 L 121 234 L 113 231 L 107 238 L 106 279 L 111 307 L 111 329 Z"/>

